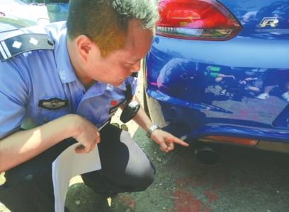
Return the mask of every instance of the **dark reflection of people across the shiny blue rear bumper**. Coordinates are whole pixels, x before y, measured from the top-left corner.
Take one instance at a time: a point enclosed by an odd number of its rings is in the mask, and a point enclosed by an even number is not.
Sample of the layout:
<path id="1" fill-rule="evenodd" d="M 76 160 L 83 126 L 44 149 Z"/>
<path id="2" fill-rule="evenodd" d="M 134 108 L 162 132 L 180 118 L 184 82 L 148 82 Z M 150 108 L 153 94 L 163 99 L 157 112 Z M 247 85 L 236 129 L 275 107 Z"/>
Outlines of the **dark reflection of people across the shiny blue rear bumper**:
<path id="1" fill-rule="evenodd" d="M 215 66 L 174 58 L 149 76 L 154 76 L 149 86 L 157 85 L 158 90 L 149 93 L 153 98 L 205 110 L 206 117 L 271 124 L 289 102 L 289 69 Z M 244 109 L 248 107 L 251 110 Z"/>

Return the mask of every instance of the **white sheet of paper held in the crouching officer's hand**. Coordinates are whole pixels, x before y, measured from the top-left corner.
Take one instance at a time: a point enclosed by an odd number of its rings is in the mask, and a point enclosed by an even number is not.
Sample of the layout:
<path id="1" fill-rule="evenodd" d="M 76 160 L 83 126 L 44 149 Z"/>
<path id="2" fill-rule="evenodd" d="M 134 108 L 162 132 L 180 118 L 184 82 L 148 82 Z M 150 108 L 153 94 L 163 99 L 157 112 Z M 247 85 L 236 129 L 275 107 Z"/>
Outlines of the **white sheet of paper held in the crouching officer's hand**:
<path id="1" fill-rule="evenodd" d="M 98 147 L 90 153 L 75 153 L 80 143 L 74 143 L 52 163 L 52 179 L 55 194 L 55 212 L 64 211 L 64 203 L 72 177 L 101 169 Z"/>

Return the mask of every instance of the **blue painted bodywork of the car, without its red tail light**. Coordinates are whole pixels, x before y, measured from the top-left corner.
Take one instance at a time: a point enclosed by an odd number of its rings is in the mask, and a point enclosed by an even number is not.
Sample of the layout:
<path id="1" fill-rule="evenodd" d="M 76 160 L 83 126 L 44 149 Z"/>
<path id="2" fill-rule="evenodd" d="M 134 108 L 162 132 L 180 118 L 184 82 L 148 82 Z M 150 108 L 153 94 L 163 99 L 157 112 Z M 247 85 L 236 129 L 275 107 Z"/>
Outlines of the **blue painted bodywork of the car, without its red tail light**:
<path id="1" fill-rule="evenodd" d="M 289 143 L 289 1 L 220 2 L 242 24 L 236 37 L 154 38 L 146 88 L 149 112 L 161 114 L 152 119 L 189 140 L 222 135 Z M 278 23 L 260 25 L 270 17 Z"/>

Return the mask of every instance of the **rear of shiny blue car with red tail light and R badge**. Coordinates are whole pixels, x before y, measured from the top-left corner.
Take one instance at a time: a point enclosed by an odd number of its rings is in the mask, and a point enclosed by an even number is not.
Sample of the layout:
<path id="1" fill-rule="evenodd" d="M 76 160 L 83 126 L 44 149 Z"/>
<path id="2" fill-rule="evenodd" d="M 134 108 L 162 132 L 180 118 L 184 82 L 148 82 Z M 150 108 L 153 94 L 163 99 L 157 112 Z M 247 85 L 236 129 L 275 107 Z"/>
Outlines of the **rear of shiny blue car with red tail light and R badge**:
<path id="1" fill-rule="evenodd" d="M 289 153 L 289 1 L 162 0 L 145 109 L 199 143 Z"/>

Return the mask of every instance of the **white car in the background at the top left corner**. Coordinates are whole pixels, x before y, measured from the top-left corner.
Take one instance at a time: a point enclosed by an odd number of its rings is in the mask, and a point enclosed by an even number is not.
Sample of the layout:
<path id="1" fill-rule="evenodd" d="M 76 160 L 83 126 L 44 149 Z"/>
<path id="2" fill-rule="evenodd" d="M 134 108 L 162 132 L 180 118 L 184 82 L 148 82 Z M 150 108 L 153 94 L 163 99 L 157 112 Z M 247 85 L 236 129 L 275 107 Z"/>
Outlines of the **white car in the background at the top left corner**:
<path id="1" fill-rule="evenodd" d="M 0 16 L 31 20 L 40 25 L 50 23 L 44 4 L 32 5 L 21 0 L 0 0 Z"/>

